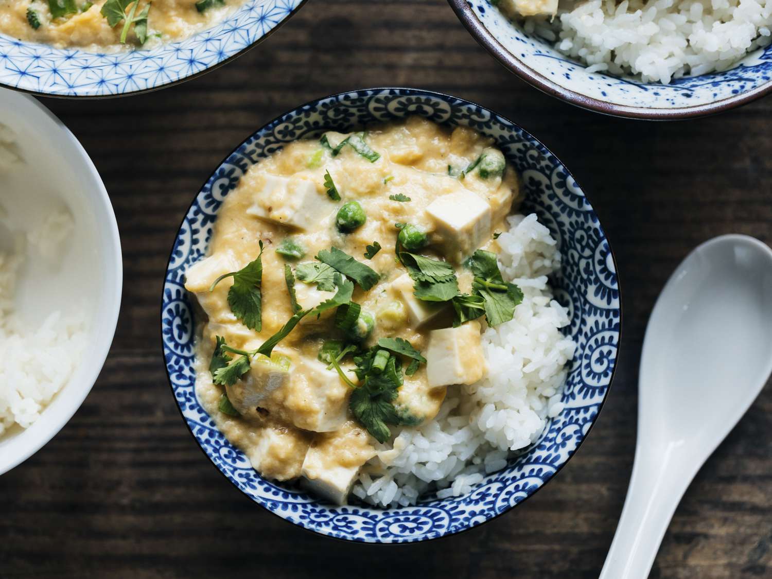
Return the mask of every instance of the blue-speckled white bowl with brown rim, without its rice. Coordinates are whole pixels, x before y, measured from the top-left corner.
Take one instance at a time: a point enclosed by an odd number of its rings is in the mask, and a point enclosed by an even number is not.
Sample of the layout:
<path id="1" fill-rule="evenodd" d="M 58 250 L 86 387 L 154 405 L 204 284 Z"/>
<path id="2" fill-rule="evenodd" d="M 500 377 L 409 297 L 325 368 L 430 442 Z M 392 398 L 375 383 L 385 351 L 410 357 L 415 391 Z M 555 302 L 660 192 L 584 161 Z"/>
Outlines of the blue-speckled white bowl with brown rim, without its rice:
<path id="1" fill-rule="evenodd" d="M 772 46 L 722 73 L 647 84 L 630 76 L 587 73 L 551 42 L 510 22 L 489 0 L 448 2 L 477 42 L 511 72 L 552 97 L 599 113 L 652 120 L 702 117 L 772 91 Z"/>

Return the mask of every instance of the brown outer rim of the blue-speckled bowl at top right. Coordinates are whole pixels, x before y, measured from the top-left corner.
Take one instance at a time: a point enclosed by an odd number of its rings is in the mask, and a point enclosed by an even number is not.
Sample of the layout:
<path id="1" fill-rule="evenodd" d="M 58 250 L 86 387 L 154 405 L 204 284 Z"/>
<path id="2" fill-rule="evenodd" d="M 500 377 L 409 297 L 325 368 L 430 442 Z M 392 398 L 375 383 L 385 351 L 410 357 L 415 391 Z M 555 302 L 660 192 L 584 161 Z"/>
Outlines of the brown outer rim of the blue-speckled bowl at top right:
<path id="1" fill-rule="evenodd" d="M 605 100 L 587 97 L 582 93 L 569 90 L 560 86 L 532 69 L 523 60 L 520 60 L 505 46 L 496 36 L 480 22 L 477 15 L 472 10 L 467 0 L 448 0 L 450 7 L 459 17 L 459 20 L 469 31 L 482 48 L 486 49 L 501 66 L 510 71 L 510 73 L 520 76 L 528 84 L 537 88 L 541 92 L 564 100 L 569 104 L 580 107 L 585 110 L 591 110 L 595 113 L 602 113 L 611 117 L 624 117 L 638 120 L 686 120 L 697 117 L 707 117 L 709 115 L 723 113 L 726 110 L 735 107 L 742 107 L 754 100 L 764 97 L 772 92 L 772 80 L 758 86 L 747 93 L 740 93 L 733 97 L 726 97 L 722 100 L 716 100 L 713 103 L 695 105 L 693 107 L 673 107 L 673 108 L 655 108 L 655 107 L 628 107 L 622 104 L 609 103 Z"/>

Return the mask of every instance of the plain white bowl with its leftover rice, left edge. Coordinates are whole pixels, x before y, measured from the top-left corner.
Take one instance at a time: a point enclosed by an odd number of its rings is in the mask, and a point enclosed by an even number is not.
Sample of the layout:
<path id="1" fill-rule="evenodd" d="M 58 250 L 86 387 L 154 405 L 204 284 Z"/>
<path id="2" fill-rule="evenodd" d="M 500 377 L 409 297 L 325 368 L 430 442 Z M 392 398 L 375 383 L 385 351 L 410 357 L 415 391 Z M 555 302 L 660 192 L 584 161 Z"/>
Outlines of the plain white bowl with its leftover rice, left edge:
<path id="1" fill-rule="evenodd" d="M 34 98 L 0 89 L 0 474 L 80 408 L 113 340 L 122 283 L 110 199 Z"/>

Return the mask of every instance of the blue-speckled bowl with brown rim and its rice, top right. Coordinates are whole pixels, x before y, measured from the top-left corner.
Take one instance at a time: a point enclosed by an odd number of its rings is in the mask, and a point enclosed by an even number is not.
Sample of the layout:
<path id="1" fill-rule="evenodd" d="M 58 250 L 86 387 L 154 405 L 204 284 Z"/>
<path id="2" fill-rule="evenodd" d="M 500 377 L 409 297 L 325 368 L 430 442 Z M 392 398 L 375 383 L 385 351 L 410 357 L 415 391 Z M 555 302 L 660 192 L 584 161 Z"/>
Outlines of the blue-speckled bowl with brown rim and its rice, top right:
<path id="1" fill-rule="evenodd" d="M 772 90 L 772 12 L 740 0 L 449 0 L 472 36 L 543 92 L 599 113 L 700 117 Z"/>

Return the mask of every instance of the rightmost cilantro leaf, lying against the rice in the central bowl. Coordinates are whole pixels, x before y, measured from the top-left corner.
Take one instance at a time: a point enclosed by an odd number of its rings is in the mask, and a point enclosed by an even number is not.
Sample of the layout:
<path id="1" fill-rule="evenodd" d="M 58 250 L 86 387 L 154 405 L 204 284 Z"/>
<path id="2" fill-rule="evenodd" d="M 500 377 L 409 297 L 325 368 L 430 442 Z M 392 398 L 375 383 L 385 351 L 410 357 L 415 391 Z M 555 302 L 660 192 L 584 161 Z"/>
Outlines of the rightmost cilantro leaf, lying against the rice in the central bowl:
<path id="1" fill-rule="evenodd" d="M 505 282 L 496 262 L 496 254 L 478 249 L 469 258 L 475 278 L 472 294 L 482 297 L 488 325 L 498 326 L 512 320 L 515 308 L 523 301 L 523 292 L 514 283 Z"/>

